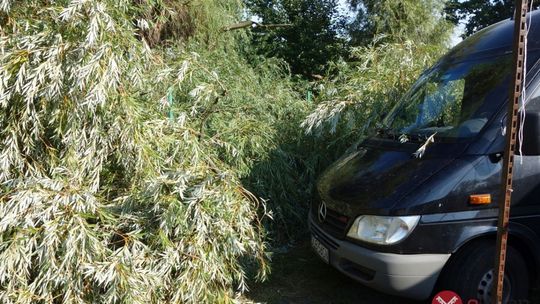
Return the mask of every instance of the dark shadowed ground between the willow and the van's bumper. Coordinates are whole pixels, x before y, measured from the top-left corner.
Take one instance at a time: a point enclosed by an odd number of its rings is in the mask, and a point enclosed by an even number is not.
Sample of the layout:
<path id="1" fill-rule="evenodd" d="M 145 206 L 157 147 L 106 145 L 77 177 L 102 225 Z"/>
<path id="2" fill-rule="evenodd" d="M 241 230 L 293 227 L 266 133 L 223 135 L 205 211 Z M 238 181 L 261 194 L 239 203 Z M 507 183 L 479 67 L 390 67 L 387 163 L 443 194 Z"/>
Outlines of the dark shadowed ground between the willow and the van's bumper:
<path id="1" fill-rule="evenodd" d="M 417 304 L 389 296 L 354 282 L 325 264 L 311 251 L 309 242 L 275 254 L 272 274 L 265 283 L 252 286 L 247 298 L 268 304 Z"/>

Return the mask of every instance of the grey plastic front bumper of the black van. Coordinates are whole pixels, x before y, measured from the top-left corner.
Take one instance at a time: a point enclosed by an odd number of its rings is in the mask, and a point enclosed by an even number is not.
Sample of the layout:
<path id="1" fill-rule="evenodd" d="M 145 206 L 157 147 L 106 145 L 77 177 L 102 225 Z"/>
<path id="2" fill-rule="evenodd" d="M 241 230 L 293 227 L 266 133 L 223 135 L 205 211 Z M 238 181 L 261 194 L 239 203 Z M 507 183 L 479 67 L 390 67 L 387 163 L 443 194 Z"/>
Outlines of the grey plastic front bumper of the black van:
<path id="1" fill-rule="evenodd" d="M 450 254 L 382 253 L 338 240 L 309 217 L 311 234 L 329 251 L 329 263 L 354 280 L 384 293 L 427 299 Z"/>

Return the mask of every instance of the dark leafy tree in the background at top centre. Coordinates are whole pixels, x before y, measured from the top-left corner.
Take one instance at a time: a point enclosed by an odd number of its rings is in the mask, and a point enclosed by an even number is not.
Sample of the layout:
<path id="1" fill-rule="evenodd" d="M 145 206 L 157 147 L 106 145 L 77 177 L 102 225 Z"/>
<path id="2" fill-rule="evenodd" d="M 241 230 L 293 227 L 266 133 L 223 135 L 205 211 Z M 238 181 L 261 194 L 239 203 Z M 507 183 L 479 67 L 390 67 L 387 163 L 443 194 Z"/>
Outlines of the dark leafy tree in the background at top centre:
<path id="1" fill-rule="evenodd" d="M 340 35 L 344 17 L 337 0 L 246 0 L 246 4 L 262 23 L 291 25 L 255 30 L 253 43 L 262 56 L 288 62 L 292 73 L 323 73 L 328 62 L 346 54 Z"/>

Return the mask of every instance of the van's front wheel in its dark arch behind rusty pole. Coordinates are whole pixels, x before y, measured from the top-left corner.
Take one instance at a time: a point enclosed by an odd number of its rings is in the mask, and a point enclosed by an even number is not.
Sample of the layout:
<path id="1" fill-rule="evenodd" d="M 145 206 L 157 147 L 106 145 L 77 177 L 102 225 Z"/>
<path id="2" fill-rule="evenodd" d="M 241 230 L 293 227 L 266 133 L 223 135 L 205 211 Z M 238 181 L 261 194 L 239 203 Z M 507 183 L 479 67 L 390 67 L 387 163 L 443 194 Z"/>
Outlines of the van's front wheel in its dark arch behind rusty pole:
<path id="1" fill-rule="evenodd" d="M 474 242 L 457 252 L 439 277 L 438 288 L 456 292 L 464 303 L 476 299 L 492 303 L 492 289 L 497 280 L 493 273 L 495 240 Z M 504 271 L 503 303 L 526 301 L 529 293 L 529 273 L 519 251 L 508 246 Z"/>

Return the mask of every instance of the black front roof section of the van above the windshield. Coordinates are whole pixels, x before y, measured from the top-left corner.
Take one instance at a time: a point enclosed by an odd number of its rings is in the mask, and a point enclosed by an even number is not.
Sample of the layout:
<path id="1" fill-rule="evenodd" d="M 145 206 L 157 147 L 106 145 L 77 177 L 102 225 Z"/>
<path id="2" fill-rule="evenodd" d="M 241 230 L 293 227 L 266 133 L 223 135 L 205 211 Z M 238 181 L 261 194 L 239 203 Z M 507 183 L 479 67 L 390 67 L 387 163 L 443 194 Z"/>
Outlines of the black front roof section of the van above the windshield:
<path id="1" fill-rule="evenodd" d="M 527 49 L 539 49 L 540 10 L 532 11 L 527 14 L 527 25 L 529 26 Z M 448 53 L 447 57 L 450 57 L 448 59 L 454 59 L 455 57 L 463 58 L 463 56 L 469 56 L 475 53 L 493 52 L 501 54 L 512 52 L 513 33 L 514 20 L 503 20 L 484 28 L 463 40 Z"/>

